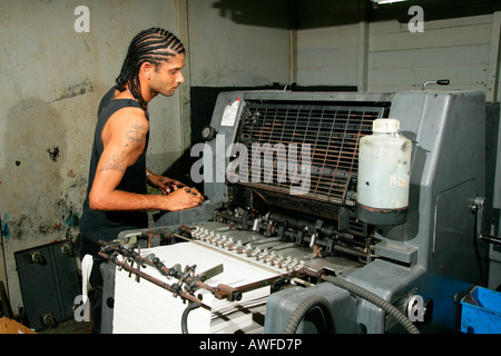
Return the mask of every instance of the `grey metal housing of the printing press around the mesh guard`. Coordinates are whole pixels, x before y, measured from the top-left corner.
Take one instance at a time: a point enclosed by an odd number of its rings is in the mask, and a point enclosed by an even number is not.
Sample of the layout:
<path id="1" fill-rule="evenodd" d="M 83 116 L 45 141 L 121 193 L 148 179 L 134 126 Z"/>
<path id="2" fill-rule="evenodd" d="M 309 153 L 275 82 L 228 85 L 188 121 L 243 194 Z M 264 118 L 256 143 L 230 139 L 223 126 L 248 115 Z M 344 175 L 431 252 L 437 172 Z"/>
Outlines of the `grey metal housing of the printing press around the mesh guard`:
<path id="1" fill-rule="evenodd" d="M 225 109 L 238 99 L 236 121 L 222 125 Z M 214 218 L 213 210 L 228 204 L 232 185 L 222 179 L 232 159 L 226 148 L 237 137 L 247 102 L 299 107 L 310 103 L 355 108 L 382 106 L 385 108 L 381 111 L 382 117 L 400 120 L 401 132 L 413 141 L 406 221 L 397 226 L 370 226 L 375 241 L 371 258 L 355 268 L 334 267 L 331 273 L 370 290 L 413 317 L 421 332 L 458 330 L 461 297 L 473 286 L 485 285 L 489 274 L 490 246 L 478 238 L 474 209 L 475 198 L 485 195 L 484 95 L 432 90 L 397 93 L 223 92 L 218 96 L 210 122 L 219 140 L 214 137 L 207 140 L 210 149 L 205 150 L 203 158 L 205 167 L 212 165 L 212 179 L 204 181 L 207 201 L 191 210 L 157 216 L 156 226 L 186 224 L 195 227 Z M 224 149 L 218 147 L 222 142 Z M 356 179 L 356 170 L 352 178 Z M 350 199 L 334 205 L 354 210 L 356 191 L 350 194 Z M 272 205 L 276 206 L 282 199 L 301 201 L 301 197 L 282 192 L 276 194 L 275 199 Z M 344 210 L 340 211 L 340 215 L 344 214 Z M 337 253 L 331 251 L 328 258 L 336 258 Z M 317 266 L 318 259 L 328 258 L 312 258 L 308 264 Z M 402 330 L 380 307 L 343 288 L 318 283 L 273 293 L 267 301 L 264 332 L 283 333 L 289 316 L 311 295 L 323 296 L 331 303 L 335 328 L 340 333 Z M 415 310 L 415 305 L 410 304 L 410 300 L 415 300 L 414 296 L 420 297 Z M 297 332 L 317 330 L 314 325 L 303 322 Z"/>

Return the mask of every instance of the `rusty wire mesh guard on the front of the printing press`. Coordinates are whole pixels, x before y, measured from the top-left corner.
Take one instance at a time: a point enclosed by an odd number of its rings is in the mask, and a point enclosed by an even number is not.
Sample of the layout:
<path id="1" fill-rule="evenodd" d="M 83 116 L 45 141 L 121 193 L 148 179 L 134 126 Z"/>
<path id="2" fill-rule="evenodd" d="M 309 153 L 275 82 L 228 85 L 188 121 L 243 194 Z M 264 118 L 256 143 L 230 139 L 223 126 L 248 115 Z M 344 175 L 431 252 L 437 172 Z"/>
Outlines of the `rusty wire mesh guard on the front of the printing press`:
<path id="1" fill-rule="evenodd" d="M 358 141 L 383 115 L 383 107 L 246 102 L 236 140 L 248 150 L 250 178 L 240 182 L 289 194 L 310 172 L 304 196 L 344 204 Z"/>

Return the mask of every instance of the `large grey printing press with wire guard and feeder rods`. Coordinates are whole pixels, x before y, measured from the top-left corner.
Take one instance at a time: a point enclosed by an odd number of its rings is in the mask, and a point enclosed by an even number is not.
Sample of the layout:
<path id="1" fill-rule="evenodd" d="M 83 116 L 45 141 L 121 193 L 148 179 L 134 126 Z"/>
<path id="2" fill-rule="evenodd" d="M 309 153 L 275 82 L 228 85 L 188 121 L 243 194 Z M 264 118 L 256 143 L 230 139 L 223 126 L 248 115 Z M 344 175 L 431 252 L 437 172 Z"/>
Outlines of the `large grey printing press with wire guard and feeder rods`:
<path id="1" fill-rule="evenodd" d="M 366 208 L 357 200 L 360 140 L 381 118 L 397 119 L 412 141 L 409 204 L 402 209 Z M 482 230 L 491 204 L 484 198 L 482 92 L 223 92 L 203 136 L 205 144 L 191 150 L 199 157 L 191 177 L 203 181 L 206 201 L 161 212 L 154 228 L 125 231 L 104 253 L 110 256 L 112 247 L 132 266 L 141 249 L 126 248 L 130 237 L 147 239 L 154 247 L 143 250 L 150 256 L 191 244 L 276 277 L 239 289 L 149 258 L 161 275 L 154 283 L 184 301 L 183 317 L 198 300 L 195 284 L 234 304 L 247 290 L 269 286 L 253 332 L 459 329 L 460 299 L 485 285 L 489 249 L 499 244 Z M 302 151 L 305 144 L 308 151 Z M 115 275 L 122 267 L 101 267 L 104 333 L 116 332 Z"/>

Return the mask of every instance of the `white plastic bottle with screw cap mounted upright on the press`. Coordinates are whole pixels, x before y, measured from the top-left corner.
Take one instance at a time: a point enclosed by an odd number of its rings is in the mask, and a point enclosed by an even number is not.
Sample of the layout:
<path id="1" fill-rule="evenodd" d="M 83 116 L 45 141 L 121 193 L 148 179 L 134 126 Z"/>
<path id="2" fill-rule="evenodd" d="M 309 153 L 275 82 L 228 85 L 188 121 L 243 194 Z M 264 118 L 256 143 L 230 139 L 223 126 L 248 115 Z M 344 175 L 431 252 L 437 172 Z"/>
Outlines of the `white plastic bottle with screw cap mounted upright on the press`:
<path id="1" fill-rule="evenodd" d="M 412 141 L 396 119 L 376 119 L 373 134 L 360 140 L 357 217 L 374 225 L 405 222 Z"/>

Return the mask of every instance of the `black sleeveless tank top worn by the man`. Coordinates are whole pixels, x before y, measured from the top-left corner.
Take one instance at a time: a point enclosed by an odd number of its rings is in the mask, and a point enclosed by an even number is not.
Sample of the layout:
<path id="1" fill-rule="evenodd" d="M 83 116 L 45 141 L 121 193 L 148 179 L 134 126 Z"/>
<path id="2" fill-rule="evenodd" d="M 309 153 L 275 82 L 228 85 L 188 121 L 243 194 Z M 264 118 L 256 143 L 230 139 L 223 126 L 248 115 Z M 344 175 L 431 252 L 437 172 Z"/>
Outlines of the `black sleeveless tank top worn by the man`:
<path id="1" fill-rule="evenodd" d="M 90 157 L 89 180 L 87 186 L 87 197 L 84 201 L 82 216 L 80 218 L 80 254 L 97 255 L 99 251 L 98 240 L 111 241 L 118 234 L 125 230 L 141 229 L 148 227 L 148 216 L 146 212 L 136 211 L 100 211 L 89 207 L 89 191 L 96 176 L 97 165 L 101 157 L 104 146 L 101 142 L 102 129 L 108 119 L 122 108 L 141 108 L 136 100 L 114 99 L 115 87 L 102 98 L 98 109 L 98 121 L 94 137 L 92 154 Z M 148 115 L 146 116 L 148 119 Z M 148 148 L 149 131 L 146 137 L 146 147 L 143 155 L 132 166 L 128 167 L 124 178 L 118 185 L 118 190 L 147 194 L 146 187 L 146 151 Z"/>

